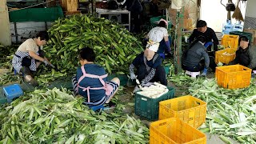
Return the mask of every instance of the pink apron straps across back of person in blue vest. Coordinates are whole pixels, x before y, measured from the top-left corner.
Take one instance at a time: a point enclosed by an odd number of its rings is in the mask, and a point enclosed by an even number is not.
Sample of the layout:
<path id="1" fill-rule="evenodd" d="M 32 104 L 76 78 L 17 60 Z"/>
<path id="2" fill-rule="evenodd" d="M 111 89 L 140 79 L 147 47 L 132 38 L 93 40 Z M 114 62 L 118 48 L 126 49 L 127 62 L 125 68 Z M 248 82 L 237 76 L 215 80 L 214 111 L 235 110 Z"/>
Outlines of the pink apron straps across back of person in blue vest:
<path id="1" fill-rule="evenodd" d="M 87 105 L 94 104 L 93 102 L 90 102 L 90 90 L 101 90 L 101 89 L 104 89 L 104 90 L 106 90 L 106 95 L 110 94 L 111 91 L 110 91 L 110 89 L 107 88 L 107 85 L 105 84 L 105 82 L 103 80 L 103 78 L 107 77 L 107 74 L 104 74 L 104 75 L 101 75 L 101 76 L 95 75 L 95 74 L 87 74 L 84 66 L 81 66 L 81 70 L 82 70 L 82 74 L 83 75 L 82 75 L 82 77 L 80 77 L 78 79 L 77 91 L 78 91 L 78 88 L 81 88 L 82 91 L 86 91 L 87 90 L 87 102 L 86 102 Z M 87 78 L 98 78 L 99 81 L 102 83 L 102 87 L 90 87 L 90 86 L 82 87 L 82 86 L 80 86 L 79 85 L 80 82 L 82 81 L 83 78 L 86 78 L 86 77 Z"/>

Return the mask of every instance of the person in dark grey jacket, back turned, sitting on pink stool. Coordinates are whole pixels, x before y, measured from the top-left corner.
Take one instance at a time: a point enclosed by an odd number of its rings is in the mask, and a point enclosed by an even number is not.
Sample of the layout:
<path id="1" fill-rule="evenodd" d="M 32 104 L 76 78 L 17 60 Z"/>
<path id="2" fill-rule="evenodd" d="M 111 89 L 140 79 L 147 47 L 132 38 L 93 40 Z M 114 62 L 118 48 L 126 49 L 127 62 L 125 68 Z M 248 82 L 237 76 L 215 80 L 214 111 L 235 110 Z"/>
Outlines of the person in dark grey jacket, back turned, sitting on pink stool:
<path id="1" fill-rule="evenodd" d="M 182 67 L 184 70 L 191 72 L 202 70 L 201 75 L 206 76 L 210 58 L 204 46 L 205 42 L 205 37 L 200 36 L 190 45 L 189 50 L 184 53 L 182 58 Z"/>

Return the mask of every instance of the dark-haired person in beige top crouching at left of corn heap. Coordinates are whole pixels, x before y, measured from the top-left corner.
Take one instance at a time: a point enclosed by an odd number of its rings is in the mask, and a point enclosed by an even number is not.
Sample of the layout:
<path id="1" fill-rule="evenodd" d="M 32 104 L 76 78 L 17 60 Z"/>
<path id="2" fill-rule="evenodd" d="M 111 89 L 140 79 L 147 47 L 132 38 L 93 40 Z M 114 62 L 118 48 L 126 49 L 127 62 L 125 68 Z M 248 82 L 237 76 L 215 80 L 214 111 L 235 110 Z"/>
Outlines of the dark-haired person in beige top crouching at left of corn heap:
<path id="1" fill-rule="evenodd" d="M 30 82 L 32 86 L 38 86 L 33 78 L 33 73 L 36 72 L 41 62 L 54 67 L 45 57 L 41 50 L 42 46 L 46 45 L 49 36 L 46 31 L 41 31 L 35 38 L 29 38 L 18 47 L 12 60 L 12 66 L 22 74 L 26 82 Z"/>

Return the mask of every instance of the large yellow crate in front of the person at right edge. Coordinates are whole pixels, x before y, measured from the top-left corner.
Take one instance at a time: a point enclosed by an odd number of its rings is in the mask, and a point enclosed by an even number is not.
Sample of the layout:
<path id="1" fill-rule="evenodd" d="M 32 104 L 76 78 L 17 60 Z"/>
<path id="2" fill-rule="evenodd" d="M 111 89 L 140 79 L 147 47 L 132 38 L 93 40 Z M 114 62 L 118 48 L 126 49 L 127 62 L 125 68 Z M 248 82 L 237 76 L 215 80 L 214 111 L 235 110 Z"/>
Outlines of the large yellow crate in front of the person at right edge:
<path id="1" fill-rule="evenodd" d="M 250 86 L 251 69 L 242 65 L 218 66 L 215 71 L 218 86 L 227 89 Z"/>

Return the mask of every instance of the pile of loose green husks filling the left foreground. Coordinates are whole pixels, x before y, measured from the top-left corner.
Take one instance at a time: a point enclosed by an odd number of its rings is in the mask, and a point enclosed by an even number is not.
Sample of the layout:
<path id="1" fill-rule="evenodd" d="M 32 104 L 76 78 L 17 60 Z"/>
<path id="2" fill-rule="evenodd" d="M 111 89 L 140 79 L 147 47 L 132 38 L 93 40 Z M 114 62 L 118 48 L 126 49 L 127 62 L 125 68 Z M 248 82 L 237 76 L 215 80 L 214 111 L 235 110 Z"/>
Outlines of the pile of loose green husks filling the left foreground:
<path id="1" fill-rule="evenodd" d="M 149 130 L 125 114 L 94 113 L 66 90 L 35 90 L 0 109 L 0 143 L 147 143 Z"/>

